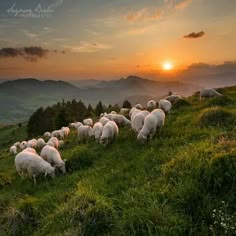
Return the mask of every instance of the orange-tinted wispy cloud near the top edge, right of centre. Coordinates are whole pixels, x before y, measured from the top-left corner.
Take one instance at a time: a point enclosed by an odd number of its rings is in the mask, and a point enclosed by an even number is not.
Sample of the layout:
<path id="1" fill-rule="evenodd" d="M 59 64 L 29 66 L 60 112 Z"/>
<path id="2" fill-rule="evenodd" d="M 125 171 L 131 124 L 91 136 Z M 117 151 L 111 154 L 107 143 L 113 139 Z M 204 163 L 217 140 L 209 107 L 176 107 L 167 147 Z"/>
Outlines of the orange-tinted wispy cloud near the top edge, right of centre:
<path id="1" fill-rule="evenodd" d="M 150 9 L 148 10 L 147 8 L 143 8 L 136 12 L 129 13 L 125 16 L 125 19 L 130 23 L 134 23 L 159 19 L 161 15 L 162 11 L 159 9 L 151 11 Z"/>

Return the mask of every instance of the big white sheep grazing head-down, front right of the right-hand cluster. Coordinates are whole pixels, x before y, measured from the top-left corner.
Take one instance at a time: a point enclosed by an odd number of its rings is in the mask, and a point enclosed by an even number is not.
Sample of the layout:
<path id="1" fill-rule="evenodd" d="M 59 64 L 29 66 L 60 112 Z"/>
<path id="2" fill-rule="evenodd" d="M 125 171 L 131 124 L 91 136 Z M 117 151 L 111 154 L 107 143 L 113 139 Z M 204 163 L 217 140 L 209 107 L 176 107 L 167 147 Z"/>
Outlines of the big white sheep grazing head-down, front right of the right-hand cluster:
<path id="1" fill-rule="evenodd" d="M 155 109 L 144 120 L 143 128 L 140 130 L 137 140 L 145 142 L 148 138 L 152 139 L 157 129 L 161 129 L 165 122 L 165 113 L 161 109 Z"/>

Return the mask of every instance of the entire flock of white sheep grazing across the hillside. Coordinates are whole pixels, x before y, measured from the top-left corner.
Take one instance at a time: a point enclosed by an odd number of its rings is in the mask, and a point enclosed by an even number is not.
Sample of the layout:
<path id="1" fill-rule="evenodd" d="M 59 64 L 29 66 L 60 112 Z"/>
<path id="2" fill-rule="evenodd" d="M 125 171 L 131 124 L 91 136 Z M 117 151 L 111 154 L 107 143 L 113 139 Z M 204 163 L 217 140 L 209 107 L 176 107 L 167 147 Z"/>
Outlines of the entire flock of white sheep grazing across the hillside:
<path id="1" fill-rule="evenodd" d="M 214 89 L 203 89 L 200 91 L 200 100 L 206 97 L 222 96 Z M 172 104 L 181 99 L 178 94 L 172 94 L 161 99 L 157 104 L 154 100 L 147 103 L 147 110 L 142 105 L 136 104 L 133 108 L 121 108 L 120 114 L 101 114 L 95 124 L 91 118 L 81 122 L 71 123 L 70 128 L 76 129 L 80 142 L 94 138 L 101 145 L 110 144 L 119 134 L 119 127 L 129 126 L 137 134 L 137 140 L 141 143 L 152 139 L 165 123 L 166 114 L 170 113 Z M 128 119 L 129 117 L 130 119 Z M 10 153 L 16 155 L 15 167 L 20 176 L 28 175 L 36 183 L 39 175 L 55 176 L 55 170 L 66 173 L 65 160 L 62 160 L 58 149 L 63 146 L 65 139 L 70 134 L 69 127 L 62 127 L 52 133 L 45 132 L 44 139 L 31 139 L 29 141 L 17 142 L 10 147 Z M 18 153 L 18 150 L 20 152 Z M 36 150 L 41 151 L 40 155 Z"/>

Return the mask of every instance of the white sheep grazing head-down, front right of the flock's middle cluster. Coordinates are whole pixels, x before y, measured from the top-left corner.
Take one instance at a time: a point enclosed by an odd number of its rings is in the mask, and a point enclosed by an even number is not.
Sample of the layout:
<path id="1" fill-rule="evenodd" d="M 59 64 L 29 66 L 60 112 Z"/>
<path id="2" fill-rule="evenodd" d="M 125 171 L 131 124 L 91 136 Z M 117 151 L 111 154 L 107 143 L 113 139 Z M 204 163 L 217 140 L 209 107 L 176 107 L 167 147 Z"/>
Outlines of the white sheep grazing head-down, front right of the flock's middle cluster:
<path id="1" fill-rule="evenodd" d="M 102 129 L 102 135 L 100 138 L 100 144 L 107 145 L 109 144 L 114 138 L 117 137 L 119 133 L 119 128 L 114 121 L 109 121 Z"/>

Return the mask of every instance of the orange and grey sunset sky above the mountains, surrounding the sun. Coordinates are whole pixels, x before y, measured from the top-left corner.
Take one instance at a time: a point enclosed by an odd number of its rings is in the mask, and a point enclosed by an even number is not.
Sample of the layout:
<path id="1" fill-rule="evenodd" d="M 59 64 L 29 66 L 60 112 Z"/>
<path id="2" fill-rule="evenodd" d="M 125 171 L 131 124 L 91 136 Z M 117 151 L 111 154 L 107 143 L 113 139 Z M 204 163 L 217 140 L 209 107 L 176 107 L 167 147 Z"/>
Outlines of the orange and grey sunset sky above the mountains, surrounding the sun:
<path id="1" fill-rule="evenodd" d="M 155 78 L 234 62 L 235 25 L 235 0 L 2 0 L 0 77 Z"/>

